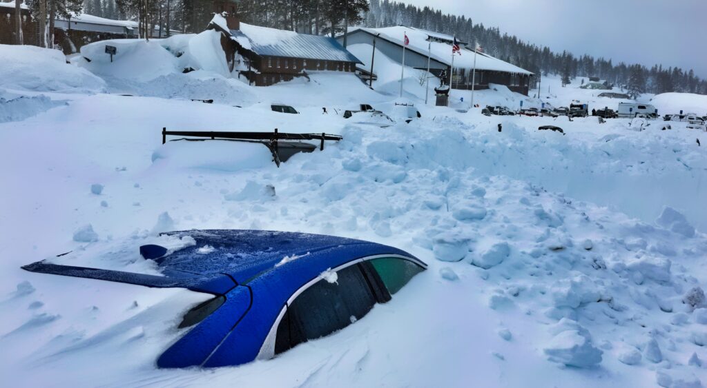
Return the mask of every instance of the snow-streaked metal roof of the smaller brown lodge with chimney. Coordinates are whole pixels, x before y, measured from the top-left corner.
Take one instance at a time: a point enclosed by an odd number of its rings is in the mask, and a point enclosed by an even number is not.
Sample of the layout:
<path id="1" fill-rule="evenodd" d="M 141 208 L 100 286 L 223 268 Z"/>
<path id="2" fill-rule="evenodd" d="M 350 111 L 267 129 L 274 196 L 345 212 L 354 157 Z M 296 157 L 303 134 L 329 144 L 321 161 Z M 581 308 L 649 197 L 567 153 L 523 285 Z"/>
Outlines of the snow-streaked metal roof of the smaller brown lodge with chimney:
<path id="1" fill-rule="evenodd" d="M 240 23 L 240 30 L 230 30 L 230 33 L 243 48 L 258 55 L 361 63 L 332 37 L 299 34 L 246 23 Z"/>

